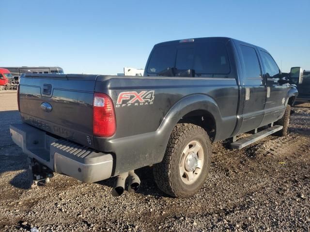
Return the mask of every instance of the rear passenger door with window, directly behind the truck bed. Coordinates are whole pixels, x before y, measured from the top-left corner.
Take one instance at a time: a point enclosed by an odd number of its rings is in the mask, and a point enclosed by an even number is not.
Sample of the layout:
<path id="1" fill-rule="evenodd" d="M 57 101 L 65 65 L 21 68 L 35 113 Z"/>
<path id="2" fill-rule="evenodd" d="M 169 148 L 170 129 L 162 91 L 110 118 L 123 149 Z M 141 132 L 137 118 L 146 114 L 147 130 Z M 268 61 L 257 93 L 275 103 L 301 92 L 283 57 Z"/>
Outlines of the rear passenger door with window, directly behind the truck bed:
<path id="1" fill-rule="evenodd" d="M 264 116 L 266 87 L 263 82 L 262 69 L 256 47 L 243 42 L 239 42 L 236 45 L 242 67 L 242 97 L 245 100 L 242 124 L 238 131 L 238 134 L 240 134 L 251 131 L 261 125 Z"/>

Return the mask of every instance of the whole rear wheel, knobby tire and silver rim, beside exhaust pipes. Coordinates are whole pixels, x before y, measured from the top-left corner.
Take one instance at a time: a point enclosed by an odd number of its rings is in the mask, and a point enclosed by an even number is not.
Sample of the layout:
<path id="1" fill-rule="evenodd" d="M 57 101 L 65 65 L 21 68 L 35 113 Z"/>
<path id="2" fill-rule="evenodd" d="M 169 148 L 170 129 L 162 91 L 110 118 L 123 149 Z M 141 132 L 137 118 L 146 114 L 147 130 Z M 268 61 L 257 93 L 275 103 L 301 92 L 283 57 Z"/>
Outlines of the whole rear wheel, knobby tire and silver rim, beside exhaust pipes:
<path id="1" fill-rule="evenodd" d="M 173 197 L 189 197 L 202 187 L 211 162 L 209 137 L 194 124 L 177 124 L 162 162 L 155 164 L 155 182 Z"/>

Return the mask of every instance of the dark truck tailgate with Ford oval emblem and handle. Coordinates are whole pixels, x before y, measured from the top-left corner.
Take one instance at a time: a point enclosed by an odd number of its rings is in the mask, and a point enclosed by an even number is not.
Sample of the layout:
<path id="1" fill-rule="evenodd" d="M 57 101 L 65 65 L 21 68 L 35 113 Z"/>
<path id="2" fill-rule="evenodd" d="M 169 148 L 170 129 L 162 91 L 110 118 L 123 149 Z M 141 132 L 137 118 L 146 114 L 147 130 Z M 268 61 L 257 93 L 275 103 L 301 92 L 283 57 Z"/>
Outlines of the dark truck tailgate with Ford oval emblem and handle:
<path id="1" fill-rule="evenodd" d="M 20 80 L 22 120 L 41 130 L 93 147 L 96 75 L 27 74 Z"/>

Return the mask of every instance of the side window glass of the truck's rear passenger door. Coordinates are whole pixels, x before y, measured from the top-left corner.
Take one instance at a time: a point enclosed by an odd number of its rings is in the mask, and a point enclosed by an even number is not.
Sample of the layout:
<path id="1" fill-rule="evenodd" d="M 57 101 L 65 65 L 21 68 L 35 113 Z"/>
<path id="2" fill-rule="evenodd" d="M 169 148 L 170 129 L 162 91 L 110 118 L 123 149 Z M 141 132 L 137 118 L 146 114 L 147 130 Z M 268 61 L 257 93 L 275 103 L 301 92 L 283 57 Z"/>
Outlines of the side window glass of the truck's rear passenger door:
<path id="1" fill-rule="evenodd" d="M 240 48 L 243 57 L 245 78 L 261 80 L 261 67 L 255 49 L 245 45 L 240 45 Z"/>

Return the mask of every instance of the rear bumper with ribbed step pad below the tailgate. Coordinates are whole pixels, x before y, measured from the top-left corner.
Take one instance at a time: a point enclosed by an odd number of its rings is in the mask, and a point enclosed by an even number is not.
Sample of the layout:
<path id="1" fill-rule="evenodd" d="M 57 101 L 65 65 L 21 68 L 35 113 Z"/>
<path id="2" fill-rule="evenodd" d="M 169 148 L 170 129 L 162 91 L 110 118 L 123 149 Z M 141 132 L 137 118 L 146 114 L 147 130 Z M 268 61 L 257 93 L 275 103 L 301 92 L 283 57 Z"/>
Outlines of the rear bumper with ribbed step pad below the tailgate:
<path id="1" fill-rule="evenodd" d="M 10 125 L 11 137 L 28 157 L 38 160 L 56 173 L 83 182 L 111 177 L 113 157 L 67 140 L 57 139 L 28 124 Z"/>

